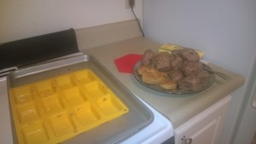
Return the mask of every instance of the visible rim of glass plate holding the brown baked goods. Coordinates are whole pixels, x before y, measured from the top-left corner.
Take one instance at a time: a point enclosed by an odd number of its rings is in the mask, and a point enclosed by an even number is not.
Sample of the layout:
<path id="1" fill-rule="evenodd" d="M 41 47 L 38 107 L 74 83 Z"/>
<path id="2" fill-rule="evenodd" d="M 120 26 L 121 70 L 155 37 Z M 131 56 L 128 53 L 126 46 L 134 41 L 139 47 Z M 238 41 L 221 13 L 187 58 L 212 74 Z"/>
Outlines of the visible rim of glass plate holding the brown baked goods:
<path id="1" fill-rule="evenodd" d="M 207 66 L 206 64 L 203 63 L 203 65 Z M 142 76 L 138 74 L 138 68 L 141 66 L 141 61 L 138 61 L 137 64 L 133 67 L 133 76 L 137 79 L 138 82 L 140 82 L 141 84 L 147 86 L 150 89 L 154 89 L 160 92 L 164 92 L 164 93 L 171 93 L 171 94 L 190 94 L 190 93 L 195 93 L 195 92 L 199 92 L 201 90 L 207 89 L 209 88 L 215 81 L 215 75 L 210 72 L 210 78 L 209 80 L 203 84 L 201 89 L 197 89 L 197 90 L 192 90 L 192 89 L 175 89 L 175 90 L 167 90 L 167 89 L 163 89 L 158 85 L 155 84 L 145 84 L 143 82 Z M 207 66 L 208 68 L 210 68 L 209 66 Z M 211 69 L 211 68 L 210 68 Z"/>

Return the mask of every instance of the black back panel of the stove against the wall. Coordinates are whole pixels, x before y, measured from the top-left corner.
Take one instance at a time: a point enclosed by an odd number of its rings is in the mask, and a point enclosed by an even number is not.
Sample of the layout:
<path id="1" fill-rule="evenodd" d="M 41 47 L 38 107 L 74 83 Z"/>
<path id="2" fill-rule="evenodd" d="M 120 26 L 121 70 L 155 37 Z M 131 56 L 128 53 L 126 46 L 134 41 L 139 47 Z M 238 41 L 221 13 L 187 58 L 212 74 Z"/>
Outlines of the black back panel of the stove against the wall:
<path id="1" fill-rule="evenodd" d="M 0 70 L 23 67 L 79 52 L 73 28 L 0 44 Z"/>

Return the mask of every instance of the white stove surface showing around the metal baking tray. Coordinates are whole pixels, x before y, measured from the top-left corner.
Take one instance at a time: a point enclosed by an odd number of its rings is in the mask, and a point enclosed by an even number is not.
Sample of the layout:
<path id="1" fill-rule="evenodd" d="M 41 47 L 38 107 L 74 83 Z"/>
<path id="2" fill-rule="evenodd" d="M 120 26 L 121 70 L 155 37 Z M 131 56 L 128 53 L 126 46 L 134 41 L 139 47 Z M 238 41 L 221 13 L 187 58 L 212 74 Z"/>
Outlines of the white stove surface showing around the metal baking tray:
<path id="1" fill-rule="evenodd" d="M 0 78 L 0 143 L 13 144 L 7 89 L 6 77 Z M 123 141 L 122 144 L 160 144 L 173 137 L 172 123 L 145 101 L 143 101 L 143 104 L 154 113 L 154 121 L 137 134 Z"/>

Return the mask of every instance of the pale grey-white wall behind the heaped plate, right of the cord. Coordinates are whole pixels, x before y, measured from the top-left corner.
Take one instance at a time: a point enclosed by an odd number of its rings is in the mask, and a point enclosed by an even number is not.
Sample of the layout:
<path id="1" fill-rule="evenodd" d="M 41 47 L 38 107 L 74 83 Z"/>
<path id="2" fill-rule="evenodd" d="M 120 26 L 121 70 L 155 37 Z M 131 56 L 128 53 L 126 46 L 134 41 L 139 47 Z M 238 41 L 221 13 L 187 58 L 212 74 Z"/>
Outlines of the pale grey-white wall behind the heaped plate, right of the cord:
<path id="1" fill-rule="evenodd" d="M 255 0 L 145 0 L 143 28 L 159 43 L 205 51 L 205 60 L 242 74 L 247 85 L 256 54 L 255 14 Z M 232 136 L 246 90 L 241 87 L 232 96 L 221 143 Z"/>

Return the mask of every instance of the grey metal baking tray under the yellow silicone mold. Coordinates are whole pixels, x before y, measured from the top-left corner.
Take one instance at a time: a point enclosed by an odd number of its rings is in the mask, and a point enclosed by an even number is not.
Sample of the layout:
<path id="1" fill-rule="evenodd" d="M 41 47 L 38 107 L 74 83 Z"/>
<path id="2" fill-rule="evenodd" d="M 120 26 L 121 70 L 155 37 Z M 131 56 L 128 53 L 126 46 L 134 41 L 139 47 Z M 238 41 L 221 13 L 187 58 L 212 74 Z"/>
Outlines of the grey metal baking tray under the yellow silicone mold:
<path id="1" fill-rule="evenodd" d="M 139 101 L 129 89 L 119 82 L 111 72 L 102 66 L 91 55 L 75 55 L 57 60 L 49 60 L 47 62 L 28 66 L 15 72 L 10 72 L 7 76 L 8 89 L 12 89 L 25 84 L 32 84 L 47 78 L 75 72 L 84 68 L 89 68 L 92 72 L 102 79 L 103 83 L 119 97 L 121 101 L 129 108 L 129 112 L 125 115 L 113 119 L 108 123 L 102 124 L 93 130 L 76 135 L 72 139 L 63 143 L 120 143 L 125 141 L 131 135 L 135 135 L 143 128 L 147 127 L 154 120 L 153 113 Z M 12 123 L 13 133 L 15 135 L 15 126 Z M 17 139 L 14 136 L 14 141 Z"/>

